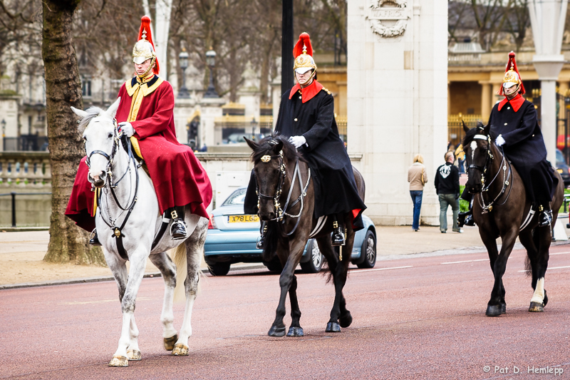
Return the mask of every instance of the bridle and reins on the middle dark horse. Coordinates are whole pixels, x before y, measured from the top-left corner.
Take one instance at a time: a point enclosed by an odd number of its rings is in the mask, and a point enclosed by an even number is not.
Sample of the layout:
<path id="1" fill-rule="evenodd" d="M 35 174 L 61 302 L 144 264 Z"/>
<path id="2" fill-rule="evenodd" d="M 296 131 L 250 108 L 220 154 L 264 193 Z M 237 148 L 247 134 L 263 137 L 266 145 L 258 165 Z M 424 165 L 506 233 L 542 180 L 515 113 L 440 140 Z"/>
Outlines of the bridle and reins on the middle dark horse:
<path id="1" fill-rule="evenodd" d="M 295 169 L 293 172 L 293 178 L 291 178 L 291 187 L 289 188 L 289 195 L 287 195 L 287 200 L 285 201 L 285 205 L 283 208 L 281 208 L 281 203 L 279 202 L 279 198 L 281 197 L 281 193 L 283 192 L 283 185 L 285 183 L 285 178 L 287 175 L 286 172 L 286 167 L 285 164 L 283 162 L 283 150 L 279 151 L 279 155 L 264 155 L 263 157 L 261 157 L 261 162 L 262 163 L 269 163 L 269 161 L 271 161 L 272 158 L 279 158 L 279 171 L 281 173 L 279 173 L 279 183 L 277 183 L 277 190 L 275 192 L 275 195 L 273 197 L 271 197 L 271 195 L 264 195 L 261 194 L 261 192 L 259 191 L 259 189 L 256 189 L 257 192 L 257 208 L 259 209 L 259 201 L 261 200 L 261 198 L 266 199 L 266 200 L 273 200 L 274 202 L 274 206 L 275 206 L 275 213 L 276 213 L 276 217 L 274 217 L 271 220 L 277 220 L 281 223 L 284 223 L 284 217 L 288 216 L 288 217 L 293 217 L 293 218 L 299 218 L 301 216 L 301 213 L 303 212 L 303 207 L 304 207 L 304 197 L 306 197 L 307 195 L 307 188 L 309 188 L 309 181 L 311 180 L 311 168 L 309 168 L 309 174 L 307 175 L 307 183 L 305 184 L 305 187 L 303 187 L 303 183 L 301 182 L 301 173 L 299 173 L 299 158 L 296 158 L 296 162 L 295 162 Z M 289 201 L 291 200 L 291 194 L 293 193 L 293 188 L 295 185 L 295 180 L 299 178 L 299 188 L 301 189 L 301 194 L 299 195 L 299 197 L 294 200 L 294 202 L 292 202 L 289 205 Z M 257 181 L 256 181 L 256 185 L 257 185 Z M 301 208 L 299 210 L 299 214 L 297 215 L 291 215 L 287 212 L 287 209 L 290 207 L 294 207 L 294 205 L 296 205 L 297 203 L 301 202 Z M 295 232 L 295 230 L 297 229 L 297 226 L 299 225 L 299 219 L 297 219 L 296 223 L 295 223 L 295 227 L 293 227 L 293 230 L 291 230 L 291 232 L 286 233 L 287 236 L 291 236 L 293 235 L 293 232 Z"/>

